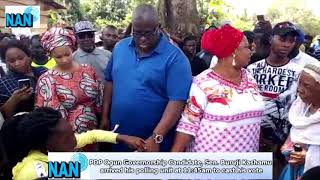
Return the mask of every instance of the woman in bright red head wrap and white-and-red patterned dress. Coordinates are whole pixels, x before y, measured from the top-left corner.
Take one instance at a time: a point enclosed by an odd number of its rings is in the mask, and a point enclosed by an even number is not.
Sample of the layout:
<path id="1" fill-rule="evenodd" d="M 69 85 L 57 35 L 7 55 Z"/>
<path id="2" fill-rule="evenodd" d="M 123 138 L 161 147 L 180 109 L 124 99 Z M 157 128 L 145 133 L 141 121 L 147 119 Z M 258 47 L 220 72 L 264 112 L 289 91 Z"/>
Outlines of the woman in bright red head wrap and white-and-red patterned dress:
<path id="1" fill-rule="evenodd" d="M 201 46 L 218 63 L 193 79 L 172 151 L 257 152 L 264 104 L 243 68 L 251 56 L 248 40 L 224 25 L 205 32 Z"/>

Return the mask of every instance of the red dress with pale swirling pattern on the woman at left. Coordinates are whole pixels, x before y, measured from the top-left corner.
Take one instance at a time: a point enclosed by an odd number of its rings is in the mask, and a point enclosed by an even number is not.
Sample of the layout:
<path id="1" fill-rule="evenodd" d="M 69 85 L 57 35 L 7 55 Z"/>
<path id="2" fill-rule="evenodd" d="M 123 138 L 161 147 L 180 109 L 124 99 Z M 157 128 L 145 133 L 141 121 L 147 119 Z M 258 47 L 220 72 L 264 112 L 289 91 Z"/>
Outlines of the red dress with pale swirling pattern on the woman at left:
<path id="1" fill-rule="evenodd" d="M 89 65 L 73 73 L 49 70 L 38 80 L 36 106 L 59 110 L 75 133 L 97 128 L 102 98 L 103 84 Z"/>

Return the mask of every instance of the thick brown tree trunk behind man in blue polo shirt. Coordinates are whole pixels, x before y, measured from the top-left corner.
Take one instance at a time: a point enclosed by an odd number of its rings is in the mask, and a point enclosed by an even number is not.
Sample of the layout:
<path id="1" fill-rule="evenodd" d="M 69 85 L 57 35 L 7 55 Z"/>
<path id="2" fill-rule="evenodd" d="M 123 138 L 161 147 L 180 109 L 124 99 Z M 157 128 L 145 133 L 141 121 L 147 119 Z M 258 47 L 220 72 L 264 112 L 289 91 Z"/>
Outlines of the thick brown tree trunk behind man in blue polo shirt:
<path id="1" fill-rule="evenodd" d="M 159 0 L 160 22 L 170 33 L 199 34 L 200 18 L 196 0 Z"/>

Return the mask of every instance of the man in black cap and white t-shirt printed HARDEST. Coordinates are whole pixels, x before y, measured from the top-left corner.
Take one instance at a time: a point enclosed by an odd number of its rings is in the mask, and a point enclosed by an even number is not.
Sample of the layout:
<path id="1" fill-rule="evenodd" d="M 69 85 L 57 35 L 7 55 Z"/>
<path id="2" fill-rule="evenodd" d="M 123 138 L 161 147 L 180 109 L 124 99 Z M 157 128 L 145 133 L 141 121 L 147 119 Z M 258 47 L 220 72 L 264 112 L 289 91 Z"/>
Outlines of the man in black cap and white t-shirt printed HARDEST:
<path id="1" fill-rule="evenodd" d="M 263 152 L 273 152 L 273 178 L 277 179 L 286 164 L 280 147 L 290 132 L 288 110 L 296 97 L 298 77 L 302 67 L 289 57 L 298 36 L 297 28 L 290 22 L 274 26 L 270 39 L 270 53 L 265 59 L 248 66 L 257 80 L 264 98 L 265 110 L 261 124 L 261 147 Z M 303 61 L 299 60 L 299 63 Z"/>

